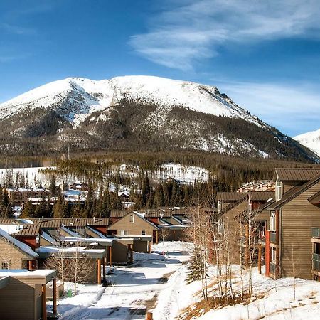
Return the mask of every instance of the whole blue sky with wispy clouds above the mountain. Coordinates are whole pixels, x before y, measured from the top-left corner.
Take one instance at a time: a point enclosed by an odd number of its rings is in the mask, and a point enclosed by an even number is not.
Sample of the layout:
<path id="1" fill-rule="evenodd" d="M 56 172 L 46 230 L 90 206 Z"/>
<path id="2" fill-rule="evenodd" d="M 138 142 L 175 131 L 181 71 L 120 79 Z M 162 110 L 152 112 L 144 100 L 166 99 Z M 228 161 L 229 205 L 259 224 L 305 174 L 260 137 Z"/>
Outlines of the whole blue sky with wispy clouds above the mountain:
<path id="1" fill-rule="evenodd" d="M 294 136 L 320 125 L 319 0 L 1 0 L 0 102 L 71 76 L 215 85 Z"/>

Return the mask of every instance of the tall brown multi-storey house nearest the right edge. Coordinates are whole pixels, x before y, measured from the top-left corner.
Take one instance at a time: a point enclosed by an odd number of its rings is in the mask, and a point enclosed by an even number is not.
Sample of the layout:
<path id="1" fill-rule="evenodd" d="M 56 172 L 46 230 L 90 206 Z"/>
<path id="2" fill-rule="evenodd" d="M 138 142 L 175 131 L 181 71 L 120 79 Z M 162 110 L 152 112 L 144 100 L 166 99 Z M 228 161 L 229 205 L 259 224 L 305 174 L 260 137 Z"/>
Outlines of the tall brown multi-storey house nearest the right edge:
<path id="1" fill-rule="evenodd" d="M 276 169 L 274 179 L 275 200 L 265 208 L 270 217 L 266 275 L 319 279 L 315 230 L 320 226 L 320 169 Z"/>

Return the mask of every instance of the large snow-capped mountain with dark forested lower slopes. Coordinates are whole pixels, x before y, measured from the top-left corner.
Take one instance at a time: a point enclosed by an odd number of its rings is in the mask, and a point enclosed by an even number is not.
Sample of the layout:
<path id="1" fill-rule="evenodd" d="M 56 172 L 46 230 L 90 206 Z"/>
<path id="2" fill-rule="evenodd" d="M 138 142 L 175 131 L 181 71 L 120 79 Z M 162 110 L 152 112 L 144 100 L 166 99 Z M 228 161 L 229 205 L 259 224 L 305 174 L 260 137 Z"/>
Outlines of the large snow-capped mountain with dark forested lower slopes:
<path id="1" fill-rule="evenodd" d="M 0 124 L 2 154 L 70 148 L 315 156 L 216 87 L 150 76 L 50 82 L 2 103 Z"/>

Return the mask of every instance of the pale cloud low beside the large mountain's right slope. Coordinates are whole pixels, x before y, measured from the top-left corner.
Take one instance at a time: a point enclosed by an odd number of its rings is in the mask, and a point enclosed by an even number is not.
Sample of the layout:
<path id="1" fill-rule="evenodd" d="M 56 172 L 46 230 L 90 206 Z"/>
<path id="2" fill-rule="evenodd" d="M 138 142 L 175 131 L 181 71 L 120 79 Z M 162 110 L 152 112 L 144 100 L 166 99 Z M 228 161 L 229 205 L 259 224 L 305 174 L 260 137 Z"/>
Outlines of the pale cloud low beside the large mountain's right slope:
<path id="1" fill-rule="evenodd" d="M 309 84 L 214 81 L 238 105 L 295 136 L 319 129 L 319 87 Z"/>

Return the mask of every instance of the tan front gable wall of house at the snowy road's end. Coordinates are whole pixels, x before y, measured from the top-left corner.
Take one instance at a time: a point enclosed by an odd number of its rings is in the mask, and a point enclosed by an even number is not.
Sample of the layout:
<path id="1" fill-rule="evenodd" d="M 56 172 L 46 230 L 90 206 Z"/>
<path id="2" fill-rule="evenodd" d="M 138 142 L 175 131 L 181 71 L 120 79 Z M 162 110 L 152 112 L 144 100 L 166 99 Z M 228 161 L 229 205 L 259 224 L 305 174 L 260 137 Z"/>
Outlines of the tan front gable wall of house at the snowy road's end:
<path id="1" fill-rule="evenodd" d="M 130 222 L 129 214 L 118 220 L 117 223 L 110 225 L 110 230 L 117 231 L 118 236 L 121 236 L 121 230 L 127 230 L 127 235 L 142 235 L 142 230 L 146 231 L 145 235 L 153 235 L 154 227 L 138 215 L 134 215 L 133 223 Z"/>

